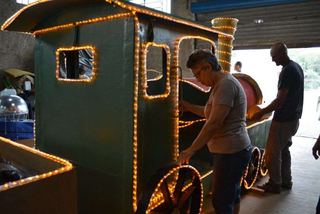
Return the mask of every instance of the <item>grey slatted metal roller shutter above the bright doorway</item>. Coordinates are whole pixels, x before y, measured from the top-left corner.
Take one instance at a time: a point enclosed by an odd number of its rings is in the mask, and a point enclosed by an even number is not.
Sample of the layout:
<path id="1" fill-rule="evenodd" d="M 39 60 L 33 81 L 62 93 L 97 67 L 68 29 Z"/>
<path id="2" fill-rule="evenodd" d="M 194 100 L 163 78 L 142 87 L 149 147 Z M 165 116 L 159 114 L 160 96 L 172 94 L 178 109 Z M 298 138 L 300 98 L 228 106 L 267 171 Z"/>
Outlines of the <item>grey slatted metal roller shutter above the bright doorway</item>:
<path id="1" fill-rule="evenodd" d="M 217 17 L 239 20 L 233 50 L 270 48 L 276 42 L 289 48 L 320 46 L 320 1 L 197 13 L 196 21 L 212 26 Z M 209 48 L 201 40 L 196 47 Z"/>

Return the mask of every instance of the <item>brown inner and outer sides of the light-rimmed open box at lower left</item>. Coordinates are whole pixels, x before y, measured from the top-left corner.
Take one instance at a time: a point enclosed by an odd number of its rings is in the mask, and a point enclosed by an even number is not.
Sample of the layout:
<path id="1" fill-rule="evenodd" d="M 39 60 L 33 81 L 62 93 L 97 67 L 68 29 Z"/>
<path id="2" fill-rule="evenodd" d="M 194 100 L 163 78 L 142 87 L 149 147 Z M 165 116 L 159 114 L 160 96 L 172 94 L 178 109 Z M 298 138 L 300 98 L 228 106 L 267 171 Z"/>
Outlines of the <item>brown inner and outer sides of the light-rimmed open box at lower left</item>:
<path id="1" fill-rule="evenodd" d="M 0 140 L 0 157 L 28 176 L 65 165 Z M 76 169 L 0 191 L 0 213 L 77 213 Z"/>

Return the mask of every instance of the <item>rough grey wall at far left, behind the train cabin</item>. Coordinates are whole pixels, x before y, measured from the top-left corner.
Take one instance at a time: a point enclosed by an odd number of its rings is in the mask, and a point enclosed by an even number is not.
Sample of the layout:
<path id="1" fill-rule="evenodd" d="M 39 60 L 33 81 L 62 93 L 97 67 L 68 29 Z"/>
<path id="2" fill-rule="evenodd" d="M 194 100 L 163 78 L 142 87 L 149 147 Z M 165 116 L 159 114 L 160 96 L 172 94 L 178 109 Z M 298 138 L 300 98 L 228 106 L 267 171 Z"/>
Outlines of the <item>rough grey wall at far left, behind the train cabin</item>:
<path id="1" fill-rule="evenodd" d="M 0 0 L 1 25 L 19 11 L 24 4 L 15 0 Z M 3 70 L 16 68 L 34 73 L 33 35 L 0 30 L 0 90 L 3 86 Z"/>

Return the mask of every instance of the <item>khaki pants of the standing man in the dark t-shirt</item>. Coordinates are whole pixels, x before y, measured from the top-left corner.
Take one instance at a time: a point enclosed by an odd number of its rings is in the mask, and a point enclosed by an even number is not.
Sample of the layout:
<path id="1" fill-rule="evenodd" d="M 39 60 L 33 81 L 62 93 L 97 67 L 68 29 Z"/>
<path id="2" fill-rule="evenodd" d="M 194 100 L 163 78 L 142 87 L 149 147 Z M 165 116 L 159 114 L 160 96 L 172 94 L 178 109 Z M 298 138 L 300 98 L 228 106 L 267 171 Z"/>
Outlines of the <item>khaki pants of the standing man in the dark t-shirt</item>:
<path id="1" fill-rule="evenodd" d="M 299 119 L 282 123 L 272 120 L 265 153 L 268 183 L 292 185 L 289 147 L 292 145 L 291 137 L 296 134 L 298 127 Z"/>

